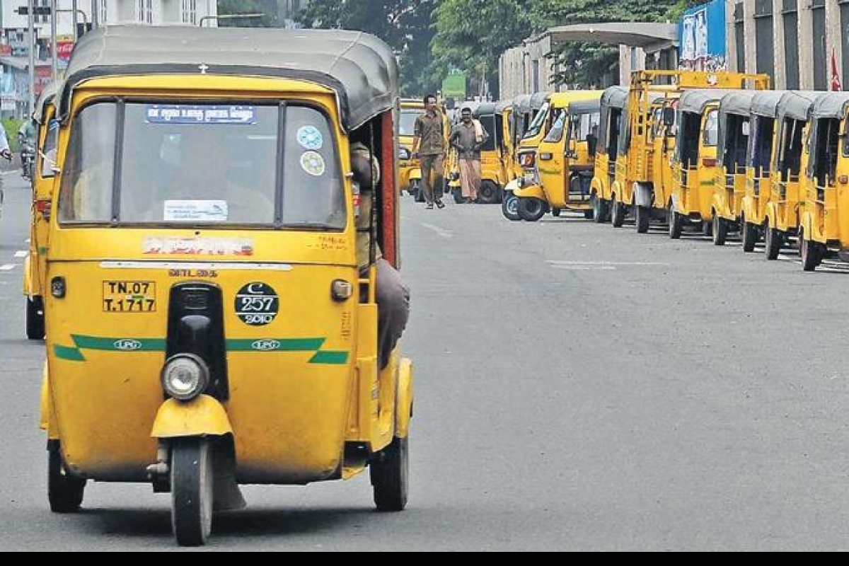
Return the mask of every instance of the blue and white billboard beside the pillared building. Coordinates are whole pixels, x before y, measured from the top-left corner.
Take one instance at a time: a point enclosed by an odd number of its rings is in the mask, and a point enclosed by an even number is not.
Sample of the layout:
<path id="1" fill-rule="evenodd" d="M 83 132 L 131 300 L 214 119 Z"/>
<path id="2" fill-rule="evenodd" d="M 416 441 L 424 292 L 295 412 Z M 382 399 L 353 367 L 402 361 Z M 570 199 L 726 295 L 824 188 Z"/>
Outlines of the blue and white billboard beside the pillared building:
<path id="1" fill-rule="evenodd" d="M 684 12 L 678 25 L 678 45 L 682 69 L 726 70 L 724 0 Z"/>

